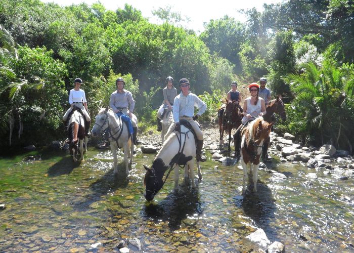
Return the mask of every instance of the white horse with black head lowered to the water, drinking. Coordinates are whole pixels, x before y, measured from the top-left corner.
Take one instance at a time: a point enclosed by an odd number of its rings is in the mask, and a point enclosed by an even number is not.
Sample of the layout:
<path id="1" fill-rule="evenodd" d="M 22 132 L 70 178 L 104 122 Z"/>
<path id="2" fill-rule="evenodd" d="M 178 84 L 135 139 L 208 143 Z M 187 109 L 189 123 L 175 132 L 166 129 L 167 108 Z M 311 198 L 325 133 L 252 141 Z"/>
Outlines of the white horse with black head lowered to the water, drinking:
<path id="1" fill-rule="evenodd" d="M 150 201 L 158 193 L 164 185 L 169 173 L 174 168 L 174 190 L 178 187 L 179 166 L 185 166 L 185 179 L 188 177 L 192 180 L 192 187 L 195 188 L 194 182 L 194 159 L 196 157 L 196 140 L 190 128 L 184 125 L 185 120 L 181 120 L 181 133 L 173 133 L 169 135 L 163 143 L 160 151 L 157 153 L 151 167 L 144 165 L 146 174 L 144 178 L 145 198 Z M 188 121 L 186 121 L 188 123 Z M 187 124 L 188 125 L 188 124 Z M 202 173 L 199 162 L 197 161 L 198 180 L 202 180 Z M 168 171 L 165 180 L 163 176 Z"/>

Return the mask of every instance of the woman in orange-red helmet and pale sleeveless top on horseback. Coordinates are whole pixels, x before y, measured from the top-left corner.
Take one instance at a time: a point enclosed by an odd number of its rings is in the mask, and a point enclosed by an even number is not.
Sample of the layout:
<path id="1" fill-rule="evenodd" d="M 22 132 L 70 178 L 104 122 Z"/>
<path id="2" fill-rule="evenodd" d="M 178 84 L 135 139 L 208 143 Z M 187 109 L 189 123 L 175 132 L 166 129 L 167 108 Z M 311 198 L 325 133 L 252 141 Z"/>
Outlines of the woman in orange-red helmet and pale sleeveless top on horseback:
<path id="1" fill-rule="evenodd" d="M 253 82 L 249 86 L 249 92 L 251 93 L 251 97 L 248 97 L 245 99 L 245 102 L 243 104 L 243 118 L 242 118 L 242 124 L 239 126 L 239 128 L 236 130 L 236 133 L 234 134 L 234 143 L 235 143 L 235 154 L 240 156 L 240 141 L 241 141 L 241 130 L 244 125 L 246 125 L 249 120 L 252 120 L 252 118 L 256 118 L 258 116 L 263 116 L 267 111 L 265 110 L 265 103 L 262 98 L 258 96 L 259 93 L 259 86 L 257 83 Z"/>

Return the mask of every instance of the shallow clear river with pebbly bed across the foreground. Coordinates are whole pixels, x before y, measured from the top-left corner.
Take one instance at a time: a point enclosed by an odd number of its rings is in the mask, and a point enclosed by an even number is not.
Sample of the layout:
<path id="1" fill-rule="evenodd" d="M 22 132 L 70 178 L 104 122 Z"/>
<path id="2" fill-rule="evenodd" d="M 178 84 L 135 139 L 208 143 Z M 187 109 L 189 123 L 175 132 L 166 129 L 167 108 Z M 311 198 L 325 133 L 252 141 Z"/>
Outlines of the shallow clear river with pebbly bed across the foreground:
<path id="1" fill-rule="evenodd" d="M 80 164 L 61 151 L 1 157 L 0 251 L 116 251 L 120 240 L 133 237 L 149 252 L 257 251 L 245 239 L 257 228 L 288 252 L 354 251 L 353 178 L 274 160 L 273 170 L 287 179 L 261 170 L 258 194 L 242 196 L 240 164 L 207 155 L 195 190 L 181 169 L 179 191 L 172 191 L 171 175 L 152 202 L 143 195 L 143 164 L 152 163 L 152 154 L 138 152 L 128 178 L 118 179 L 109 150 L 90 148 Z M 318 179 L 309 183 L 309 172 Z"/>

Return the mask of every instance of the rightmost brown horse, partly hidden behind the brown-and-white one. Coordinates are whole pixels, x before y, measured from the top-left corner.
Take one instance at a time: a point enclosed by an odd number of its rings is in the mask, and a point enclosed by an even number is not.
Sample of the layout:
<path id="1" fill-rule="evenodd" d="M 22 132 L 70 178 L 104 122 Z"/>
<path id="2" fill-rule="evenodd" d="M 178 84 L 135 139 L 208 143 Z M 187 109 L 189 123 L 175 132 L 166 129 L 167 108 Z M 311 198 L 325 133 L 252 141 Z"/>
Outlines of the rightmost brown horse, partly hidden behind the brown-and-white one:
<path id="1" fill-rule="evenodd" d="M 265 105 L 267 113 L 263 116 L 263 119 L 268 123 L 276 122 L 274 113 L 278 113 L 280 118 L 283 121 L 286 121 L 286 112 L 285 112 L 285 105 L 283 103 L 282 97 L 278 95 L 276 99 L 273 99 Z M 268 161 L 270 158 L 268 157 L 268 148 L 270 144 L 271 138 L 269 137 L 264 142 L 263 152 L 262 152 L 262 160 Z"/>

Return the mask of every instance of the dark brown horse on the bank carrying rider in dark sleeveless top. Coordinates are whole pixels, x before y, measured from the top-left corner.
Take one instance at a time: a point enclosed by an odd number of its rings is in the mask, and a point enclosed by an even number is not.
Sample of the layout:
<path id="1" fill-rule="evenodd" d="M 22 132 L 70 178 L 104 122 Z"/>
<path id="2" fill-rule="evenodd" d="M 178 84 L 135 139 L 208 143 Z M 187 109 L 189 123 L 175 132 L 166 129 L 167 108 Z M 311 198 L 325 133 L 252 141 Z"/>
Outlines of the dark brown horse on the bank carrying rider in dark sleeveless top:
<path id="1" fill-rule="evenodd" d="M 226 100 L 226 106 L 223 113 L 218 113 L 219 121 L 219 132 L 220 132 L 220 146 L 223 145 L 224 132 L 227 131 L 229 134 L 229 151 L 232 129 L 237 129 L 242 121 L 242 114 L 239 109 L 239 101 L 237 100 Z"/>

